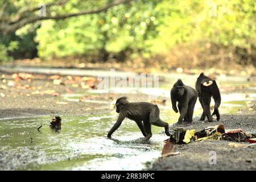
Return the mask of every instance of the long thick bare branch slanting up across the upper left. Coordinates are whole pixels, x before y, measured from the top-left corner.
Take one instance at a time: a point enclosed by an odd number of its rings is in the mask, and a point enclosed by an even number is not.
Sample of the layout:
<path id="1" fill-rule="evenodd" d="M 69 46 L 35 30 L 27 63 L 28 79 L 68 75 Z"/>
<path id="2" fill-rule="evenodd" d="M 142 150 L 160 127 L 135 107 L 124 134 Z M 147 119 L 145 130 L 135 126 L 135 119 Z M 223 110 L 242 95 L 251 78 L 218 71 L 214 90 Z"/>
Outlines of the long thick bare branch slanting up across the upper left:
<path id="1" fill-rule="evenodd" d="M 10 31 L 15 31 L 18 30 L 19 28 L 25 26 L 28 23 L 34 23 L 38 20 L 47 20 L 47 19 L 66 19 L 66 18 L 71 18 L 75 16 L 80 16 L 80 15 L 86 15 L 86 14 L 96 14 L 96 13 L 101 13 L 103 11 L 106 11 L 110 9 L 110 7 L 117 6 L 123 3 L 130 2 L 132 0 L 119 0 L 119 1 L 114 1 L 113 3 L 110 3 L 109 5 L 106 5 L 104 7 L 101 7 L 100 9 L 96 10 L 85 10 L 85 11 L 80 11 L 79 13 L 71 13 L 71 14 L 64 14 L 64 15 L 55 15 L 55 16 L 28 16 L 26 18 L 20 19 L 18 22 L 15 23 L 9 23 L 9 24 L 0 24 L 0 30 L 3 32 L 7 33 Z"/>

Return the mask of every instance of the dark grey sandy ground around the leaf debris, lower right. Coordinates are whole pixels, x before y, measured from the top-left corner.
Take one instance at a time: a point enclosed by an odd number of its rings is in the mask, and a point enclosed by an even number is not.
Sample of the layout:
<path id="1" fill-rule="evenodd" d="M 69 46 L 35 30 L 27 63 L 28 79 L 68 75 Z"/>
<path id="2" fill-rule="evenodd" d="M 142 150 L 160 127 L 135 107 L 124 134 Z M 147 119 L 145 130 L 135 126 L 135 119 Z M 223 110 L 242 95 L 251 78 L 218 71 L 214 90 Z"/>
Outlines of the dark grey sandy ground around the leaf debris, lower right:
<path id="1" fill-rule="evenodd" d="M 242 129 L 246 133 L 256 133 L 255 114 L 221 115 L 219 122 L 208 123 L 195 118 L 185 129 L 202 130 L 208 126 L 225 125 L 226 129 Z M 256 146 L 247 148 L 230 147 L 230 141 L 205 140 L 189 144 L 176 144 L 180 155 L 160 158 L 152 164 L 151 170 L 256 170 Z M 210 151 L 216 152 L 216 164 L 209 164 Z"/>

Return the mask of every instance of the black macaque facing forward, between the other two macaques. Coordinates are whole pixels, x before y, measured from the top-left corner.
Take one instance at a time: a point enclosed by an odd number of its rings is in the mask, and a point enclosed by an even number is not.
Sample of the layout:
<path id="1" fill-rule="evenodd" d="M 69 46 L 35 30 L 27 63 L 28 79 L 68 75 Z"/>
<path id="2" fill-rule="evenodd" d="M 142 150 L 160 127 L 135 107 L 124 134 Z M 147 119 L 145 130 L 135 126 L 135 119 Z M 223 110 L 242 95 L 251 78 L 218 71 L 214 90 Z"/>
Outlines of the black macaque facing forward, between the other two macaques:
<path id="1" fill-rule="evenodd" d="M 191 123 L 193 121 L 193 111 L 197 100 L 197 92 L 191 86 L 184 85 L 179 79 L 176 81 L 171 89 L 172 109 L 175 113 L 178 112 L 177 106 L 180 111 L 180 117 L 177 125 L 183 122 Z M 176 106 L 176 102 L 178 102 Z"/>

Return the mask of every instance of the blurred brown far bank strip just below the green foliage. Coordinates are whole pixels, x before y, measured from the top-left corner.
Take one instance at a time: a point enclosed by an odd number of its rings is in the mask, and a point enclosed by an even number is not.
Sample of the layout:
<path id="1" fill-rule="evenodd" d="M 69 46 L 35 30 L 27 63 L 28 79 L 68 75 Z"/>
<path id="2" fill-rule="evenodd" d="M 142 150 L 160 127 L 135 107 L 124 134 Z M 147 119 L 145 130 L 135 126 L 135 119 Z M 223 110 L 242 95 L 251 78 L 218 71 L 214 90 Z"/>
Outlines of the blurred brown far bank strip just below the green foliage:
<path id="1" fill-rule="evenodd" d="M 128 66 L 127 66 L 128 65 Z M 182 65 L 182 64 L 181 64 Z M 162 65 L 158 61 L 153 61 L 151 63 L 144 63 L 143 60 L 137 61 L 106 61 L 105 63 L 90 63 L 88 61 L 84 62 L 79 59 L 51 59 L 51 60 L 41 60 L 39 58 L 35 59 L 23 59 L 14 60 L 10 63 L 0 64 L 2 67 L 7 68 L 17 68 L 17 67 L 30 67 L 30 68 L 77 68 L 77 69 L 90 69 L 90 70 L 109 70 L 115 69 L 121 72 L 137 72 L 137 73 L 186 73 L 186 74 L 196 74 L 199 75 L 201 72 L 205 72 L 207 75 L 233 75 L 233 76 L 247 76 L 249 79 L 255 80 L 255 67 L 253 65 L 238 65 L 229 64 L 229 69 L 226 69 L 225 64 L 221 65 L 208 65 L 201 67 L 191 67 L 183 64 L 184 68 L 180 67 L 180 64 L 172 63 L 171 67 L 167 65 Z M 200 64 L 199 64 L 200 65 Z"/>

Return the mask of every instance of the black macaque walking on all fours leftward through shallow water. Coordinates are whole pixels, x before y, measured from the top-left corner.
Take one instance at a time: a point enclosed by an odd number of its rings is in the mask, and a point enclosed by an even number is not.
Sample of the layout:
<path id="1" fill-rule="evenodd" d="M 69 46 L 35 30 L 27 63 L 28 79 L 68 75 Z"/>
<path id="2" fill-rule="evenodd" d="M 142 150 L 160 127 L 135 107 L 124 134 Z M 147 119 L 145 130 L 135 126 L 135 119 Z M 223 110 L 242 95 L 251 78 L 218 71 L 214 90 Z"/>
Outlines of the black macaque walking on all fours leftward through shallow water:
<path id="1" fill-rule="evenodd" d="M 121 97 L 115 102 L 115 106 L 117 107 L 116 111 L 119 113 L 119 116 L 117 122 L 115 122 L 109 131 L 108 138 L 111 138 L 111 135 L 118 129 L 126 117 L 137 123 L 144 135 L 144 139 L 150 139 L 152 137 L 151 125 L 164 127 L 166 135 L 170 136 L 169 125 L 160 119 L 160 111 L 157 105 L 150 102 L 129 102 L 127 97 Z"/>

